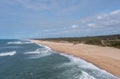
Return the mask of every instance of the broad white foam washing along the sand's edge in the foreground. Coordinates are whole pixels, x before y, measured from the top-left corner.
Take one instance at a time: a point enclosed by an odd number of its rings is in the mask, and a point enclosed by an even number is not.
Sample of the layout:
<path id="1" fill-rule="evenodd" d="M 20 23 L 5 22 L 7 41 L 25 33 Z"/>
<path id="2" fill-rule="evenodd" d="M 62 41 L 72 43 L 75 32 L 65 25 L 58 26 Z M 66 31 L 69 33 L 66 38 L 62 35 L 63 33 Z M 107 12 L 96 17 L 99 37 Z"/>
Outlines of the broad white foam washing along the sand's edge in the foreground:
<path id="1" fill-rule="evenodd" d="M 74 57 L 72 55 L 63 54 L 63 53 L 60 53 L 60 55 L 65 56 L 65 57 L 69 58 L 69 60 L 70 60 L 70 62 L 62 64 L 61 67 L 66 66 L 66 65 L 77 65 L 79 68 L 83 69 L 82 71 L 84 71 L 84 72 L 82 72 L 83 73 L 82 76 L 84 76 L 84 78 L 80 78 L 80 79 L 95 79 L 94 77 L 85 78 L 85 76 L 87 76 L 87 75 L 90 76 L 89 75 L 90 73 L 92 75 L 95 74 L 96 77 L 101 77 L 101 79 L 103 79 L 103 78 L 105 78 L 105 79 L 118 79 L 117 77 L 113 76 L 112 74 L 106 72 L 105 70 L 102 70 L 102 69 L 96 67 L 92 63 L 89 63 L 83 59 Z M 85 70 L 91 70 L 91 72 L 87 73 Z"/>

